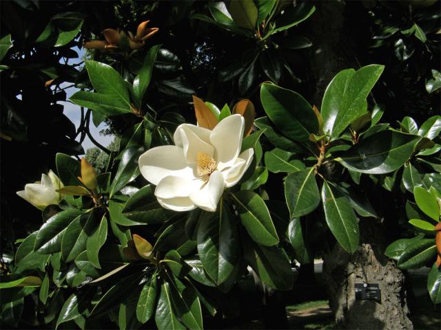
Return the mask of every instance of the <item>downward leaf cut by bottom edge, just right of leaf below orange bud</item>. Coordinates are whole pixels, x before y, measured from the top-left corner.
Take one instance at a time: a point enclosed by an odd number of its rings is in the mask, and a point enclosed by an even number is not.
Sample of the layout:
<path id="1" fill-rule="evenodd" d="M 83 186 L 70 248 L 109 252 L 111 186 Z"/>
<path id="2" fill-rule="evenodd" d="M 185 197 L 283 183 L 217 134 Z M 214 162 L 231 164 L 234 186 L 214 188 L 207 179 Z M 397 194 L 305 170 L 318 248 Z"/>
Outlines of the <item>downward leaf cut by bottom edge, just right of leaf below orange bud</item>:
<path id="1" fill-rule="evenodd" d="M 185 326 L 179 322 L 172 308 L 172 297 L 170 293 L 170 284 L 164 282 L 161 284 L 161 294 L 156 307 L 154 316 L 158 330 L 185 330 Z"/>

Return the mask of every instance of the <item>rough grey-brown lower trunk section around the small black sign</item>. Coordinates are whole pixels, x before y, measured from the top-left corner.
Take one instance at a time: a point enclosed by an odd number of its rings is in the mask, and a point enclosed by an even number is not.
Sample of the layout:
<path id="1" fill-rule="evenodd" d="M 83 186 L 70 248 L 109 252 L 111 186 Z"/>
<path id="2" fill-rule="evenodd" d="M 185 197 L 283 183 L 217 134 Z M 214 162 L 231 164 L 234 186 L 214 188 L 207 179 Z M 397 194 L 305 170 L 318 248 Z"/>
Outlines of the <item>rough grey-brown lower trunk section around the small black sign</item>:
<path id="1" fill-rule="evenodd" d="M 413 329 L 404 275 L 384 256 L 384 230 L 373 219 L 360 220 L 362 244 L 348 254 L 336 244 L 324 256 L 323 278 L 338 329 Z M 375 283 L 381 301 L 356 300 L 356 283 Z"/>

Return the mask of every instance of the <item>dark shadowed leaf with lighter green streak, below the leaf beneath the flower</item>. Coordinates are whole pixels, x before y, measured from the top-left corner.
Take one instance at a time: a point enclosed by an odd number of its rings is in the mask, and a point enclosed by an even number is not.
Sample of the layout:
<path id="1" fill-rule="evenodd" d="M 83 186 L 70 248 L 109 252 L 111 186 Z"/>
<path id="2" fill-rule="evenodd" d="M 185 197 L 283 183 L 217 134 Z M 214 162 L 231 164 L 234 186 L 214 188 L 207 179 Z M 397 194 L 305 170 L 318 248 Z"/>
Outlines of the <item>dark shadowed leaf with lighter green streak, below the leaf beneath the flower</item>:
<path id="1" fill-rule="evenodd" d="M 282 248 L 278 245 L 266 247 L 249 242 L 245 249 L 245 260 L 259 276 L 260 281 L 273 289 L 292 288 L 293 273 L 289 258 Z"/>

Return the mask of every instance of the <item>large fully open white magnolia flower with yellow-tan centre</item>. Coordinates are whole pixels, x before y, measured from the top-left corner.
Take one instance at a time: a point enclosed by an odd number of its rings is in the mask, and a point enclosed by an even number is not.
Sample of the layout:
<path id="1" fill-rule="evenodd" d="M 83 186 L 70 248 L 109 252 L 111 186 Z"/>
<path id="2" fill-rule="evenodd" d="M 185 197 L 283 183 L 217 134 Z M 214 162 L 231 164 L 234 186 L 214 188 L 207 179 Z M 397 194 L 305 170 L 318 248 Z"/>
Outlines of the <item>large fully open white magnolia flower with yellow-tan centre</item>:
<path id="1" fill-rule="evenodd" d="M 174 133 L 175 146 L 143 153 L 141 174 L 156 185 L 154 194 L 161 206 L 214 212 L 223 190 L 237 184 L 252 162 L 252 148 L 240 153 L 243 130 L 241 115 L 230 115 L 212 131 L 181 124 Z"/>

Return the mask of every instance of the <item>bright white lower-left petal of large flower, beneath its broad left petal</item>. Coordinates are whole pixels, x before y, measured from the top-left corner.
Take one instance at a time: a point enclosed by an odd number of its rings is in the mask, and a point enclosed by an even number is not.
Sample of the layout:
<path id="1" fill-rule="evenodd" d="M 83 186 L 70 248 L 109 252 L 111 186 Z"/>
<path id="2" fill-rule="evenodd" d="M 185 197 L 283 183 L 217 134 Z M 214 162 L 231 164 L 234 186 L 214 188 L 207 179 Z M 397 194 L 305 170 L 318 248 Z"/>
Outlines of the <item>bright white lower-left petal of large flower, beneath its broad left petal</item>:
<path id="1" fill-rule="evenodd" d="M 164 177 L 159 181 L 154 190 L 154 195 L 159 198 L 170 199 L 174 197 L 189 197 L 190 194 L 199 190 L 203 184 L 201 179 L 187 177 Z"/>

